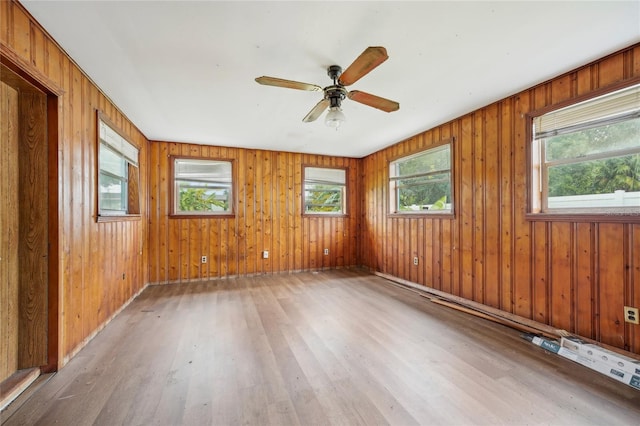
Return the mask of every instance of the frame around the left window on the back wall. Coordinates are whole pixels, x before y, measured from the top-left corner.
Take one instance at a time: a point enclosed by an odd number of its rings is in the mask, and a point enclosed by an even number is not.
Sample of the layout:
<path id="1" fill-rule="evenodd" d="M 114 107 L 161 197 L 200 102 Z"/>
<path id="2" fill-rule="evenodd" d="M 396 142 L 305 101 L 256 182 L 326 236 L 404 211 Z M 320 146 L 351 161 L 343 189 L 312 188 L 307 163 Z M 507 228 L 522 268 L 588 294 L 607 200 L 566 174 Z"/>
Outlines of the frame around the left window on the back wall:
<path id="1" fill-rule="evenodd" d="M 212 163 L 229 163 L 231 166 L 231 183 L 229 185 L 230 195 L 229 195 L 229 210 L 216 212 L 179 212 L 177 211 L 176 202 L 178 200 L 176 193 L 176 161 L 178 160 L 193 160 L 193 161 L 207 161 Z M 209 157 L 197 157 L 197 156 L 188 156 L 188 155 L 170 155 L 169 156 L 169 165 L 170 165 L 170 176 L 169 176 L 169 217 L 174 219 L 198 219 L 198 218 L 233 218 L 235 217 L 235 212 L 237 210 L 236 206 L 236 167 L 235 161 L 233 159 L 228 158 L 209 158 Z"/>

